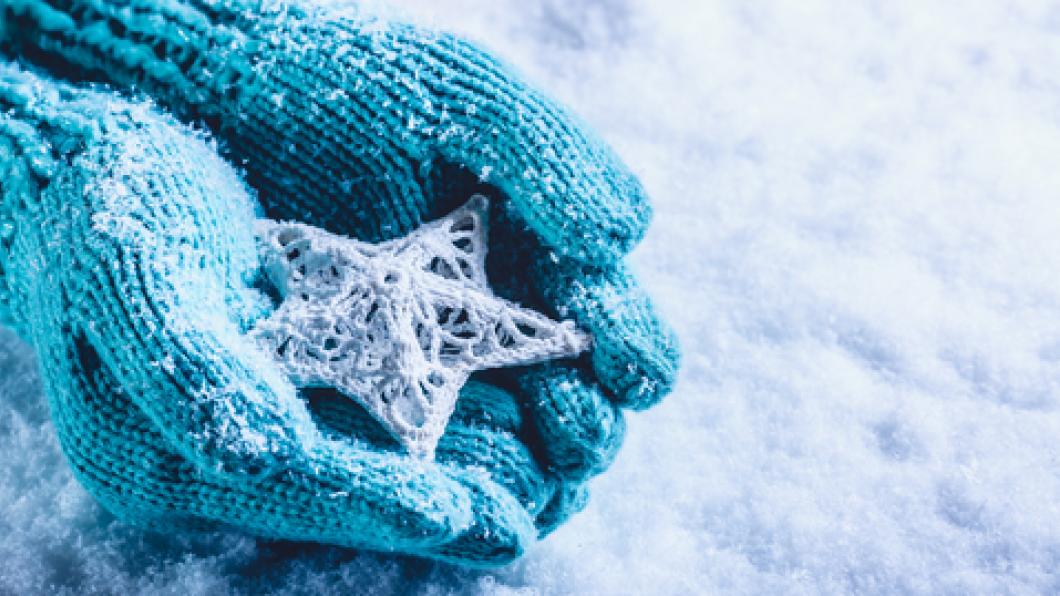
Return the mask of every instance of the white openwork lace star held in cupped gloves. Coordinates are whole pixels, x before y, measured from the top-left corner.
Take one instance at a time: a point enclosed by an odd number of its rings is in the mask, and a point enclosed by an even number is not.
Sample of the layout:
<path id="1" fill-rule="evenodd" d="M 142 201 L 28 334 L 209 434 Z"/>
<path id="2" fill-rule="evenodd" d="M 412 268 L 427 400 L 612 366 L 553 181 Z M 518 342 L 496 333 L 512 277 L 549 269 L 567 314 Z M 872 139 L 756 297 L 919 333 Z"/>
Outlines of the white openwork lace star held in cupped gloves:
<path id="1" fill-rule="evenodd" d="M 431 458 L 476 370 L 579 354 L 589 337 L 498 298 L 485 277 L 481 195 L 407 236 L 367 244 L 269 220 L 258 238 L 283 299 L 251 335 L 295 385 L 357 400 Z"/>

